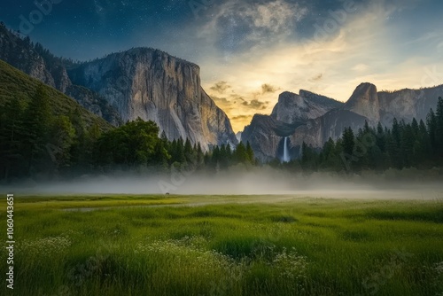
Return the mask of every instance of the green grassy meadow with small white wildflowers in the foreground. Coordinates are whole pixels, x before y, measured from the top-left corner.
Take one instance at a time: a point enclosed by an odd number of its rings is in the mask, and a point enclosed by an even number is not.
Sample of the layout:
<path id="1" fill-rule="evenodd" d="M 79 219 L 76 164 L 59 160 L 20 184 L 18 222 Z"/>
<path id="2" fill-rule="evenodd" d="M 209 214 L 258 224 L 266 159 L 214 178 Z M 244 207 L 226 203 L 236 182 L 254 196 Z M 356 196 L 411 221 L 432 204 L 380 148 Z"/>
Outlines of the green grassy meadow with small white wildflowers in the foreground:
<path id="1" fill-rule="evenodd" d="M 439 199 L 16 196 L 14 206 L 14 295 L 443 295 Z"/>

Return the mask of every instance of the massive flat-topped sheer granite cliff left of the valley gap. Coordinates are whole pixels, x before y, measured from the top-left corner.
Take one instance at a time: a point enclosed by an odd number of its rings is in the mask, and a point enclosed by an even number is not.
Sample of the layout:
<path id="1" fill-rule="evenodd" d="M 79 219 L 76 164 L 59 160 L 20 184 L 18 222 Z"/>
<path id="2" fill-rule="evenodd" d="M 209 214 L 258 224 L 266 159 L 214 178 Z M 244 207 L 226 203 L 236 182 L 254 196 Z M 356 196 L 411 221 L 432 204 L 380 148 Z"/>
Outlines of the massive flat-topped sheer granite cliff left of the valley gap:
<path id="1" fill-rule="evenodd" d="M 166 52 L 114 53 L 75 67 L 69 76 L 105 97 L 123 121 L 155 121 L 169 139 L 189 138 L 205 150 L 237 144 L 228 117 L 200 85 L 199 67 Z"/>

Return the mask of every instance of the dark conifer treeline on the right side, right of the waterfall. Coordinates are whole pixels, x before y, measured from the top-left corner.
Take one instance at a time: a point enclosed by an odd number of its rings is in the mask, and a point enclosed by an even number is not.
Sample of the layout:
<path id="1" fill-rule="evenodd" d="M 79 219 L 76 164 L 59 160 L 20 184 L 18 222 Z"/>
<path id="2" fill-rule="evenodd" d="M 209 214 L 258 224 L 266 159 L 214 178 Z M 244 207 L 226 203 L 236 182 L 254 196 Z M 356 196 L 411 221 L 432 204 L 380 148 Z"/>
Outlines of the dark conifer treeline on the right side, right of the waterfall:
<path id="1" fill-rule="evenodd" d="M 439 97 L 437 110 L 427 116 L 426 122 L 392 120 L 390 129 L 369 127 L 354 133 L 347 128 L 337 140 L 329 139 L 323 149 L 303 144 L 300 164 L 305 171 L 385 171 L 388 168 L 418 169 L 443 165 L 443 99 Z"/>

